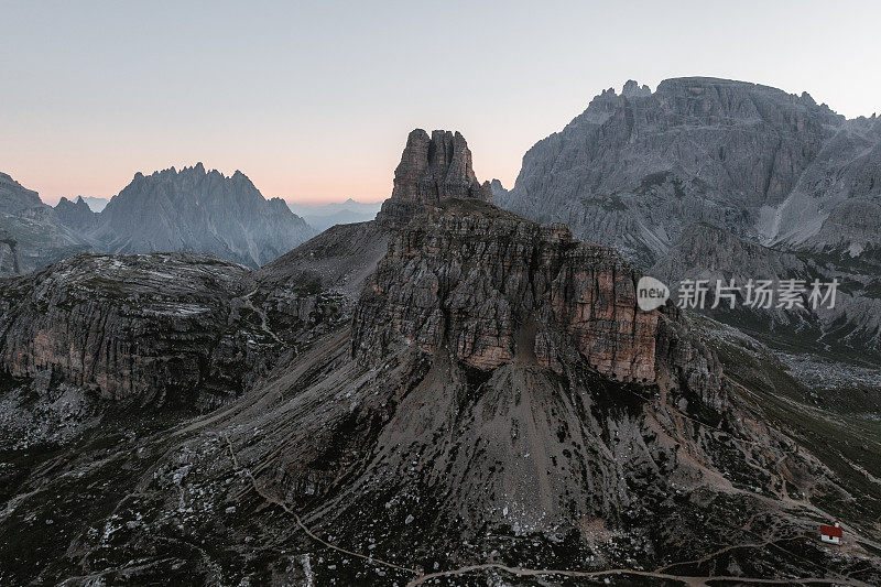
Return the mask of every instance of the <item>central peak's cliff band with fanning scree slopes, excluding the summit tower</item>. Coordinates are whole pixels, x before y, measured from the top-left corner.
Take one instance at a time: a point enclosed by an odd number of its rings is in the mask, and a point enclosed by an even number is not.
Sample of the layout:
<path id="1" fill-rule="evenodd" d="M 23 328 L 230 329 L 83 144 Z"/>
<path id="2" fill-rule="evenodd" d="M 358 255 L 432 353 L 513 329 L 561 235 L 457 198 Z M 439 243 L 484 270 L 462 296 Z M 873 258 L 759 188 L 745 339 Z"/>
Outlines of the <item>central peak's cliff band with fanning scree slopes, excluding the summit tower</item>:
<path id="1" fill-rule="evenodd" d="M 644 528 L 683 488 L 726 485 L 751 461 L 776 469 L 780 437 L 675 307 L 638 308 L 639 276 L 561 225 L 474 198 L 426 206 L 363 289 L 354 360 L 296 388 L 284 450 L 250 445 L 275 463 L 261 479 L 350 540 L 361 530 L 345 520 L 363 518 L 436 547 L 448 532 L 565 533 L 597 518 Z M 298 369 L 280 385 L 313 381 Z"/>

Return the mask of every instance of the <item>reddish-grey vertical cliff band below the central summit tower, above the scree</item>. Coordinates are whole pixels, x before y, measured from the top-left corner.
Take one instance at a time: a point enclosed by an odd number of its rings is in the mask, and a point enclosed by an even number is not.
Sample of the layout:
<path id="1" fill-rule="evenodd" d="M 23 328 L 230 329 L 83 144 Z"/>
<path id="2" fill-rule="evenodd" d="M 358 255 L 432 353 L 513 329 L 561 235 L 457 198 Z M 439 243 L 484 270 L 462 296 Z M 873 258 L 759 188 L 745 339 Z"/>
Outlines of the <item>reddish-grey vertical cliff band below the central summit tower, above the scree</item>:
<path id="1" fill-rule="evenodd" d="M 673 333 L 659 323 L 675 322 L 675 311 L 640 311 L 639 276 L 563 225 L 447 200 L 392 238 L 356 309 L 354 351 L 381 360 L 401 339 L 481 370 L 520 360 L 556 372 L 583 358 L 606 377 L 656 383 L 666 369 L 659 340 Z M 711 355 L 687 352 L 695 357 L 673 362 L 696 358 L 699 378 L 718 387 Z"/>

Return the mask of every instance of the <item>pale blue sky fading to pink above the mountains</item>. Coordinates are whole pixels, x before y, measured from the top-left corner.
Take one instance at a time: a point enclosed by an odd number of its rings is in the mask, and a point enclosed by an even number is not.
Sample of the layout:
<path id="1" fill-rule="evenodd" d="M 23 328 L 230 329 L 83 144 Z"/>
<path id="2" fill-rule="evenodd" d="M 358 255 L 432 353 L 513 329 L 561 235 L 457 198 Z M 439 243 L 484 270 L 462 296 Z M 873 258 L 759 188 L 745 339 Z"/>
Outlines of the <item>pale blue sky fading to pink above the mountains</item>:
<path id="1" fill-rule="evenodd" d="M 414 128 L 510 187 L 602 89 L 754 81 L 881 113 L 881 2 L 0 0 L 0 171 L 110 197 L 202 161 L 267 197 L 376 202 Z"/>

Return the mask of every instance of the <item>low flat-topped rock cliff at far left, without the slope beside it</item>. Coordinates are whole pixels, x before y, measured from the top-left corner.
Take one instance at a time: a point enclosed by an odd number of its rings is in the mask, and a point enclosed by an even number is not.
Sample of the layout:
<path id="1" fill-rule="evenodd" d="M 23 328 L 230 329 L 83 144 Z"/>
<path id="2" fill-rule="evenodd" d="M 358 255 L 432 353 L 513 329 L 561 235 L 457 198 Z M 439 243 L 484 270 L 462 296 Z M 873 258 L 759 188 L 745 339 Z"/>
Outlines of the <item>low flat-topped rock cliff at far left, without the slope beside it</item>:
<path id="1" fill-rule="evenodd" d="M 61 261 L 0 290 L 3 370 L 144 404 L 195 403 L 207 382 L 235 396 L 254 358 L 227 328 L 244 273 L 197 256 Z"/>

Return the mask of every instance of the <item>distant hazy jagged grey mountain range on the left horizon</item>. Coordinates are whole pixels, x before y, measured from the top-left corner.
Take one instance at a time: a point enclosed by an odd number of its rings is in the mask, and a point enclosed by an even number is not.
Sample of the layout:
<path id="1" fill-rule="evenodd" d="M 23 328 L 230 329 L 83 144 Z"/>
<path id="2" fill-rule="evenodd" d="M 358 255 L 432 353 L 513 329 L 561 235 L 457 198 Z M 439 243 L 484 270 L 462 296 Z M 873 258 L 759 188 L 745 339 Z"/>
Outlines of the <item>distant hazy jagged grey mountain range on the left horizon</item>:
<path id="1" fill-rule="evenodd" d="M 135 174 L 100 211 L 104 198 L 62 198 L 0 174 L 0 275 L 37 269 L 76 252 L 192 251 L 260 267 L 316 235 L 281 198 L 265 199 L 241 172 L 202 163 Z M 91 206 L 89 206 L 91 203 Z"/>

